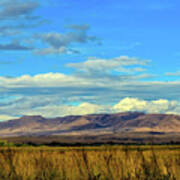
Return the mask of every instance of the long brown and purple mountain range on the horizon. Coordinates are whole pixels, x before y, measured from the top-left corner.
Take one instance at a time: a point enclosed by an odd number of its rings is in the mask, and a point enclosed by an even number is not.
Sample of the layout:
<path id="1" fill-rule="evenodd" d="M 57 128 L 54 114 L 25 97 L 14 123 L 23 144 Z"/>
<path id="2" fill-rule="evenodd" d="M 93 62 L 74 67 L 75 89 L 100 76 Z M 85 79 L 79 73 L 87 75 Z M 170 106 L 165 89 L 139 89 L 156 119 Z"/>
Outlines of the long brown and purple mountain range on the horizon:
<path id="1" fill-rule="evenodd" d="M 127 132 L 180 133 L 180 116 L 127 112 L 0 122 L 0 136 L 108 135 Z"/>

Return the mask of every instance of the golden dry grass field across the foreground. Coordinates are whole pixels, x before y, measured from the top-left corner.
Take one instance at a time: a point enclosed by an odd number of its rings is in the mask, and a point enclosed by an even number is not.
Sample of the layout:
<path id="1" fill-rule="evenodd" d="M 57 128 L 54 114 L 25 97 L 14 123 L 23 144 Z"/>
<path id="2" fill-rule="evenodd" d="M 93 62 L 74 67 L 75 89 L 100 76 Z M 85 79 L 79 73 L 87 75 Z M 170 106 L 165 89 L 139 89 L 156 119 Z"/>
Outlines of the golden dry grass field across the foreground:
<path id="1" fill-rule="evenodd" d="M 0 147 L 0 180 L 180 180 L 180 146 Z"/>

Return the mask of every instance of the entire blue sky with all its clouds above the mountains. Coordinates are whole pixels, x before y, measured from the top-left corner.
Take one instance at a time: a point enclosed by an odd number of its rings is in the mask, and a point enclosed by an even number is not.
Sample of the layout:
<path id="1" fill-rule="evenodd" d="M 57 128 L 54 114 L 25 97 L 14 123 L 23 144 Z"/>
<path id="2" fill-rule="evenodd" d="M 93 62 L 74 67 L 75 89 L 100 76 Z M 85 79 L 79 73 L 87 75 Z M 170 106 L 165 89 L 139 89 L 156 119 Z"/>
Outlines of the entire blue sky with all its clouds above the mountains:
<path id="1" fill-rule="evenodd" d="M 1 0 L 0 121 L 180 114 L 178 0 Z"/>

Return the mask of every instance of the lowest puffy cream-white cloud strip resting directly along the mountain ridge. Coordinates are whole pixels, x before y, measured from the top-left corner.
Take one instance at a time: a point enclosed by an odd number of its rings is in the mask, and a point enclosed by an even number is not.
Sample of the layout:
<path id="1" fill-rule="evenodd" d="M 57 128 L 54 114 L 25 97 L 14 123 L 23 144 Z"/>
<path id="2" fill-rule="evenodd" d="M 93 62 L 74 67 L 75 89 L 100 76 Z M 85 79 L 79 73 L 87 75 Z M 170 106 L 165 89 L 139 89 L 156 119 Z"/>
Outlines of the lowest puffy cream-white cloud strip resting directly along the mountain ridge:
<path id="1" fill-rule="evenodd" d="M 21 102 L 22 103 L 22 102 Z M 33 103 L 32 103 L 33 104 Z M 124 98 L 119 103 L 114 105 L 99 105 L 88 102 L 79 105 L 54 105 L 46 102 L 40 103 L 33 108 L 32 104 L 24 102 L 17 103 L 17 106 L 8 105 L 4 109 L 13 112 L 0 116 L 0 120 L 14 119 L 23 115 L 42 115 L 45 117 L 60 117 L 68 115 L 86 115 L 86 114 L 99 114 L 99 113 L 121 113 L 121 112 L 145 112 L 145 113 L 163 113 L 163 114 L 179 114 L 180 104 L 177 101 L 168 101 L 166 99 L 159 99 L 153 101 L 145 101 L 138 98 Z M 31 108 L 30 108 L 31 106 Z"/>

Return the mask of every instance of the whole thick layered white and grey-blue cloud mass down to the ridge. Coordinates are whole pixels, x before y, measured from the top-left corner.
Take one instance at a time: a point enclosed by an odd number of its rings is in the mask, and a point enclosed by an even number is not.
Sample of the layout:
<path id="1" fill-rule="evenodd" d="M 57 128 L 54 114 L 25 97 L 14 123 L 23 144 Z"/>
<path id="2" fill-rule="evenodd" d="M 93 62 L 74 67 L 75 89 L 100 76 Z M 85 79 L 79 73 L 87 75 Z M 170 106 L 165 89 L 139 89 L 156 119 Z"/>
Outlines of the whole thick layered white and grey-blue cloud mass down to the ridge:
<path id="1" fill-rule="evenodd" d="M 74 73 L 0 77 L 1 117 L 47 117 L 141 111 L 180 114 L 179 81 L 146 81 L 149 60 L 89 58 Z M 142 71 L 141 69 L 144 69 Z M 3 120 L 3 119 L 2 119 Z"/>

